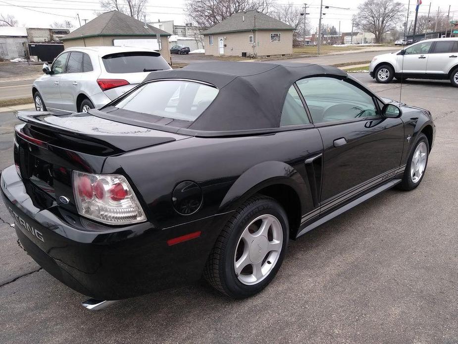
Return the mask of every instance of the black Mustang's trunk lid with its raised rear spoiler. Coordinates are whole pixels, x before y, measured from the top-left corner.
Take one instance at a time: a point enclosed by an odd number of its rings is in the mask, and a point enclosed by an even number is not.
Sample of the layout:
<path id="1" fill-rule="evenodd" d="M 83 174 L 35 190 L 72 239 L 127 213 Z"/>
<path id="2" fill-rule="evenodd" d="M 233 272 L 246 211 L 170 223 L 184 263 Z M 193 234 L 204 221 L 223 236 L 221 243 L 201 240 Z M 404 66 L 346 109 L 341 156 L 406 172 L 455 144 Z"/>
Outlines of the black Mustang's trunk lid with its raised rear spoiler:
<path id="1" fill-rule="evenodd" d="M 73 138 L 71 141 L 75 146 L 87 145 L 89 141 L 110 148 L 112 153 L 128 152 L 186 137 L 120 123 L 90 113 L 15 111 L 14 115 L 32 127 L 43 129 L 57 141 L 62 136 L 67 140 Z"/>

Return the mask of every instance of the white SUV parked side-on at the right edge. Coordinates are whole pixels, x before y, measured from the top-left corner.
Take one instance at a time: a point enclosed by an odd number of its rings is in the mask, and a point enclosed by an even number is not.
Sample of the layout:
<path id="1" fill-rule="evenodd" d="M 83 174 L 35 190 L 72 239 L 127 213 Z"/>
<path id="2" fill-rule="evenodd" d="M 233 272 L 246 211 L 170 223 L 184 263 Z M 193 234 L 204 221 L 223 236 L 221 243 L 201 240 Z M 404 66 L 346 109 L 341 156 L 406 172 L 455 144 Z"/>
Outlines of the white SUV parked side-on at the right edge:
<path id="1" fill-rule="evenodd" d="M 458 87 L 458 38 L 424 40 L 396 53 L 378 55 L 370 62 L 369 73 L 380 83 L 393 78 L 449 79 Z"/>

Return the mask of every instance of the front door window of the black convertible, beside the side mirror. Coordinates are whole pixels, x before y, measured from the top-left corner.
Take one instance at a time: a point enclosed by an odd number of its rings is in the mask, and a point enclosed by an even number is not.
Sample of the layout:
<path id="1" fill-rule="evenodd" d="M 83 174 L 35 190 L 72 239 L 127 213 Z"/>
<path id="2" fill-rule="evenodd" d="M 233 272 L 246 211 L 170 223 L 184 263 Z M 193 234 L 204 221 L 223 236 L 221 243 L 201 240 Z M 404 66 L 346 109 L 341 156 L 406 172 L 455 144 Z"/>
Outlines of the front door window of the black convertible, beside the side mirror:
<path id="1" fill-rule="evenodd" d="M 311 77 L 296 82 L 314 123 L 378 115 L 372 96 L 333 77 Z"/>

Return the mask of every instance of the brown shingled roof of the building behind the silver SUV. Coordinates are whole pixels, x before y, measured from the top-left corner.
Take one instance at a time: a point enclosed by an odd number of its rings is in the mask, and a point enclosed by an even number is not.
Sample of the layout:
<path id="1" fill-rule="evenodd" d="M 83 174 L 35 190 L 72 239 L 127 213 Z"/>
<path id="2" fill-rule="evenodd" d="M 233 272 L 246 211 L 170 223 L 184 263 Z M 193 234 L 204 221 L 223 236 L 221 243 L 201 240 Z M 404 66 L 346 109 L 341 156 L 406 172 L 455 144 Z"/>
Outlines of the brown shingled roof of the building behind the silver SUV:
<path id="1" fill-rule="evenodd" d="M 170 36 L 168 32 L 145 24 L 119 11 L 105 12 L 61 38 L 62 41 L 95 36 Z"/>

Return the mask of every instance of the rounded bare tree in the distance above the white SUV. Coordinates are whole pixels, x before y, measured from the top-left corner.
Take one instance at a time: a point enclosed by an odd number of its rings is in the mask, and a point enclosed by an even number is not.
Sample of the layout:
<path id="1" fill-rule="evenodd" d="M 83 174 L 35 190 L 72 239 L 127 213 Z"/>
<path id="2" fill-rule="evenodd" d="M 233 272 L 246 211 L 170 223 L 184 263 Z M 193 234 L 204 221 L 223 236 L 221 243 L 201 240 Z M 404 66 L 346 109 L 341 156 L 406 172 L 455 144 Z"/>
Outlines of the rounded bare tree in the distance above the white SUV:
<path id="1" fill-rule="evenodd" d="M 382 43 L 384 35 L 396 28 L 405 13 L 404 5 L 394 0 L 365 0 L 358 5 L 357 26 L 375 35 L 375 43 Z"/>

